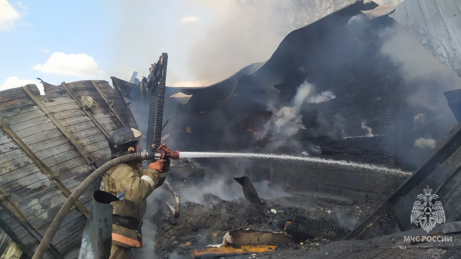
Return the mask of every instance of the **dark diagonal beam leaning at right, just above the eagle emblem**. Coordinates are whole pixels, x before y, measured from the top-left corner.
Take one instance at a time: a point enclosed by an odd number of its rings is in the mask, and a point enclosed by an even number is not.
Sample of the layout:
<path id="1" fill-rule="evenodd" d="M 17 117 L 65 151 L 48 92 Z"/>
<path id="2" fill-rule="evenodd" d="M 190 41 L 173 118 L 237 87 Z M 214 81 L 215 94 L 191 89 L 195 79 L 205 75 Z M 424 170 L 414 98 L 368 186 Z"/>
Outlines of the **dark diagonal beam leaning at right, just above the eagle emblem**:
<path id="1" fill-rule="evenodd" d="M 344 239 L 361 239 L 366 233 L 368 233 L 378 221 L 388 214 L 397 202 L 402 200 L 407 194 L 409 194 L 415 187 L 417 187 L 428 175 L 431 174 L 434 169 L 448 159 L 458 149 L 461 143 L 461 123 L 453 129 L 443 145 L 440 145 L 435 153 L 431 156 L 427 162 L 420 167 L 411 177 L 405 181 L 400 188 L 392 194 L 389 199 L 372 215 L 370 215 L 364 222 L 352 230 L 349 235 Z M 445 197 L 448 198 L 448 197 Z"/>

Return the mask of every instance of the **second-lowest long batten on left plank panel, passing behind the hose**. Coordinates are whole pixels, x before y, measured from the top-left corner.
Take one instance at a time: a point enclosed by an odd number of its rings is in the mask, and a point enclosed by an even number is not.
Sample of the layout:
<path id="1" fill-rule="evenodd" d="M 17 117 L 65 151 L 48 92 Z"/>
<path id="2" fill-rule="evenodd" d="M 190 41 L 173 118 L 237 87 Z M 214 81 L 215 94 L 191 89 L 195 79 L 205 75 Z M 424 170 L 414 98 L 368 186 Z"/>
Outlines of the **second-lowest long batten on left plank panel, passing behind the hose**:
<path id="1" fill-rule="evenodd" d="M 26 153 L 32 161 L 41 169 L 41 171 L 63 192 L 63 194 L 66 197 L 69 197 L 71 195 L 71 191 L 65 187 L 65 185 L 59 180 L 59 174 L 53 172 L 41 159 L 39 159 L 35 153 L 24 143 L 24 141 L 21 140 L 21 138 L 16 135 L 16 133 L 10 128 L 8 123 L 4 122 L 0 118 L 0 126 L 5 131 L 5 133 L 12 138 L 13 141 L 15 141 L 19 147 Z M 88 218 L 88 210 L 83 205 L 83 203 L 80 200 L 77 200 L 75 202 L 75 206 L 83 213 L 85 217 Z"/>

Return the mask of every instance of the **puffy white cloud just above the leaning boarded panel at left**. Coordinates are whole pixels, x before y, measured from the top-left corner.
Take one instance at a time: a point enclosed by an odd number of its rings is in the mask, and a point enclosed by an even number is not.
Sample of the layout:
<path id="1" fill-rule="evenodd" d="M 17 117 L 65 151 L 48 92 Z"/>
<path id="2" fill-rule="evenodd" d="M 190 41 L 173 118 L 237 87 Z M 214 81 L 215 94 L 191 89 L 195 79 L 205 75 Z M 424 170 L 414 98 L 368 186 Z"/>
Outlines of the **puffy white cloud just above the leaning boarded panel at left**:
<path id="1" fill-rule="evenodd" d="M 87 54 L 65 54 L 55 52 L 45 64 L 37 64 L 34 70 L 43 73 L 58 74 L 74 77 L 102 77 L 103 72 L 98 69 L 98 63 Z"/>

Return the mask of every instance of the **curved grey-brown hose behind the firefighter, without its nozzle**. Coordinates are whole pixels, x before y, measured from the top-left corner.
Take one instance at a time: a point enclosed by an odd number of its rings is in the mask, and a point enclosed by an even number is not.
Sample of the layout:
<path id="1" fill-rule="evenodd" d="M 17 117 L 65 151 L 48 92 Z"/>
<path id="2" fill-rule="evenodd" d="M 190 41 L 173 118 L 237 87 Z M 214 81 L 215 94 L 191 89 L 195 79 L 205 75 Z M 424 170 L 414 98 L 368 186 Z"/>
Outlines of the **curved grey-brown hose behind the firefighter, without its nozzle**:
<path id="1" fill-rule="evenodd" d="M 48 228 L 47 233 L 43 236 L 43 239 L 41 240 L 40 245 L 37 247 L 37 250 L 35 250 L 35 254 L 32 259 L 40 259 L 43 257 L 45 252 L 48 250 L 54 235 L 56 235 L 56 232 L 58 232 L 61 223 L 64 221 L 65 216 L 67 213 L 69 213 L 72 206 L 74 206 L 75 201 L 77 201 L 77 199 L 83 194 L 83 192 L 90 186 L 91 183 L 97 181 L 104 173 L 106 173 L 106 171 L 112 167 L 140 158 L 140 153 L 131 153 L 120 156 L 118 158 L 114 158 L 106 162 L 104 165 L 101 165 L 100 168 L 96 169 L 88 177 L 86 177 L 86 179 L 83 180 L 80 185 L 78 185 L 78 187 L 72 192 L 69 198 L 67 198 L 67 200 L 64 202 L 64 205 L 61 207 L 58 214 L 53 219 L 50 227 Z"/>

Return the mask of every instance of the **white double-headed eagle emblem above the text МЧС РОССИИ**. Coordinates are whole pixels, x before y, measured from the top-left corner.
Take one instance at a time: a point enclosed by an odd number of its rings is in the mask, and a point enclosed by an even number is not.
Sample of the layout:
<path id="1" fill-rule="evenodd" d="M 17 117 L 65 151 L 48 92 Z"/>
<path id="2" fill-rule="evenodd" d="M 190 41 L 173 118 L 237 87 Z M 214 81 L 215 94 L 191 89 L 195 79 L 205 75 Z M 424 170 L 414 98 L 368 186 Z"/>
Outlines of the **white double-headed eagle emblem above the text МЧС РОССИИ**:
<path id="1" fill-rule="evenodd" d="M 438 197 L 437 194 L 431 194 L 432 189 L 427 188 L 423 189 L 423 194 L 418 194 L 417 200 L 413 204 L 413 209 L 411 210 L 411 223 L 418 225 L 420 224 L 421 228 L 426 230 L 427 233 L 431 231 L 435 224 L 445 224 L 445 212 L 443 211 L 442 202 L 436 200 Z"/>

